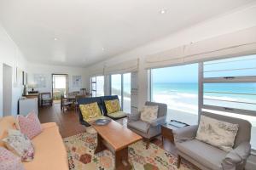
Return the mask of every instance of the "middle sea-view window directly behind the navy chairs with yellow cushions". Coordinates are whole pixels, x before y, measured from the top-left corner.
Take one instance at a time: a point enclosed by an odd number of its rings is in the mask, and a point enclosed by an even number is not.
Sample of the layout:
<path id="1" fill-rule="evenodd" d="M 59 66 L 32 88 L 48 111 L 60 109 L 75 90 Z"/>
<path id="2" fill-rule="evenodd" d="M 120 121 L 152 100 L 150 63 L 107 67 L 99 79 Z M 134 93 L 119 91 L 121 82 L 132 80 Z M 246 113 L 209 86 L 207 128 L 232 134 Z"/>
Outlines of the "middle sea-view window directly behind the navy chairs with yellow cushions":
<path id="1" fill-rule="evenodd" d="M 118 95 L 122 110 L 131 113 L 131 73 L 111 75 L 111 94 Z"/>

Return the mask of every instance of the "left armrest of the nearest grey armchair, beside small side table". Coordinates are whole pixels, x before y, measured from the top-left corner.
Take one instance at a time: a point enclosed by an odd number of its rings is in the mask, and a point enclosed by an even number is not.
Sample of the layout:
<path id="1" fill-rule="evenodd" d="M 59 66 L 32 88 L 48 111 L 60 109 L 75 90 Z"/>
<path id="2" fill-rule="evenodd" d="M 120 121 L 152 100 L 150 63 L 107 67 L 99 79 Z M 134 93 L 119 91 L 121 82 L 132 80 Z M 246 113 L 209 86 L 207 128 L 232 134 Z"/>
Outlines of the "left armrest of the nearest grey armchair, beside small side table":
<path id="1" fill-rule="evenodd" d="M 195 139 L 195 135 L 197 132 L 198 125 L 181 127 L 176 130 L 173 130 L 172 133 L 174 135 L 175 142 L 183 142 L 186 140 Z"/>

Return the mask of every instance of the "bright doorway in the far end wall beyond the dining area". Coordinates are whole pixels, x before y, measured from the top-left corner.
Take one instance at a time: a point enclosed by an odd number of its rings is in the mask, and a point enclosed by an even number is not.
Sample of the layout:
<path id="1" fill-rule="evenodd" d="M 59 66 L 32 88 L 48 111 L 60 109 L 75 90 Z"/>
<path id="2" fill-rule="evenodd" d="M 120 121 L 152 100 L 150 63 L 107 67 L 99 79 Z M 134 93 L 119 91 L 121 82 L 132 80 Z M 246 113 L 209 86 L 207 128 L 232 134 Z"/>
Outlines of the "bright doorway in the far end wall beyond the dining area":
<path id="1" fill-rule="evenodd" d="M 52 75 L 52 96 L 55 103 L 61 103 L 61 95 L 66 96 L 68 93 L 68 75 Z"/>

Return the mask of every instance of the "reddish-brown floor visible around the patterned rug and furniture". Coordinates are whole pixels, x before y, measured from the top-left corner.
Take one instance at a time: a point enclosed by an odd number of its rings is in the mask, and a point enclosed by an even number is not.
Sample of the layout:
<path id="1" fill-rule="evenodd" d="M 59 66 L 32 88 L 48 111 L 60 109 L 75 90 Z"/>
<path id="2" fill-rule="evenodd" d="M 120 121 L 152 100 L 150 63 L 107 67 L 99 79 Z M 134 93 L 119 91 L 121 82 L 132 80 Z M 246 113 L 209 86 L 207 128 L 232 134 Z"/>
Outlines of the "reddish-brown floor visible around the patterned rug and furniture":
<path id="1" fill-rule="evenodd" d="M 79 115 L 73 110 L 61 112 L 61 105 L 58 103 L 54 103 L 53 106 L 44 106 L 43 108 L 40 108 L 38 117 L 41 123 L 56 122 L 60 127 L 62 138 L 86 132 L 85 127 L 79 123 Z M 126 126 L 127 120 L 125 118 L 118 122 Z M 165 140 L 163 145 L 160 137 L 154 139 L 152 142 L 160 146 L 160 148 L 177 155 L 174 145 L 168 140 Z"/>

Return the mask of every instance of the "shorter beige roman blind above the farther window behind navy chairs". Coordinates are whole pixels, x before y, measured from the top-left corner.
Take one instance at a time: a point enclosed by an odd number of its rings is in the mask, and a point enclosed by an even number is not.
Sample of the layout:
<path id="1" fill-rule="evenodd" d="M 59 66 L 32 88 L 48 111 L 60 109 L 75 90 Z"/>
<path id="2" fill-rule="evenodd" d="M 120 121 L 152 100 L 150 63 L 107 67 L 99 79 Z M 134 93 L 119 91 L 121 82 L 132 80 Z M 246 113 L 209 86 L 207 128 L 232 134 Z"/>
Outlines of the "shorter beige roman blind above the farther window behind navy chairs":
<path id="1" fill-rule="evenodd" d="M 106 65 L 105 75 L 122 74 L 125 72 L 135 72 L 138 70 L 139 59 L 131 59 L 114 65 Z"/>

